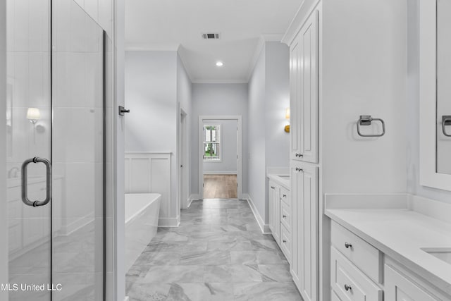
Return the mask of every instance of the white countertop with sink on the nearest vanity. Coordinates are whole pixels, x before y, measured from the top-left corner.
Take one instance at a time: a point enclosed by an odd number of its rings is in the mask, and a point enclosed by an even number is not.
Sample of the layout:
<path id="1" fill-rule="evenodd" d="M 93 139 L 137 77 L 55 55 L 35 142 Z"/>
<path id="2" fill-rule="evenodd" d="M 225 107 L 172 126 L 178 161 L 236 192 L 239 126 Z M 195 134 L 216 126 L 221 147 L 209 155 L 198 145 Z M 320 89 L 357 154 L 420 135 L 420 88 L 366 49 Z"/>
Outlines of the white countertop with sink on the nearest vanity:
<path id="1" fill-rule="evenodd" d="M 327 209 L 326 216 L 451 294 L 451 264 L 422 248 L 451 248 L 451 223 L 405 209 Z"/>

